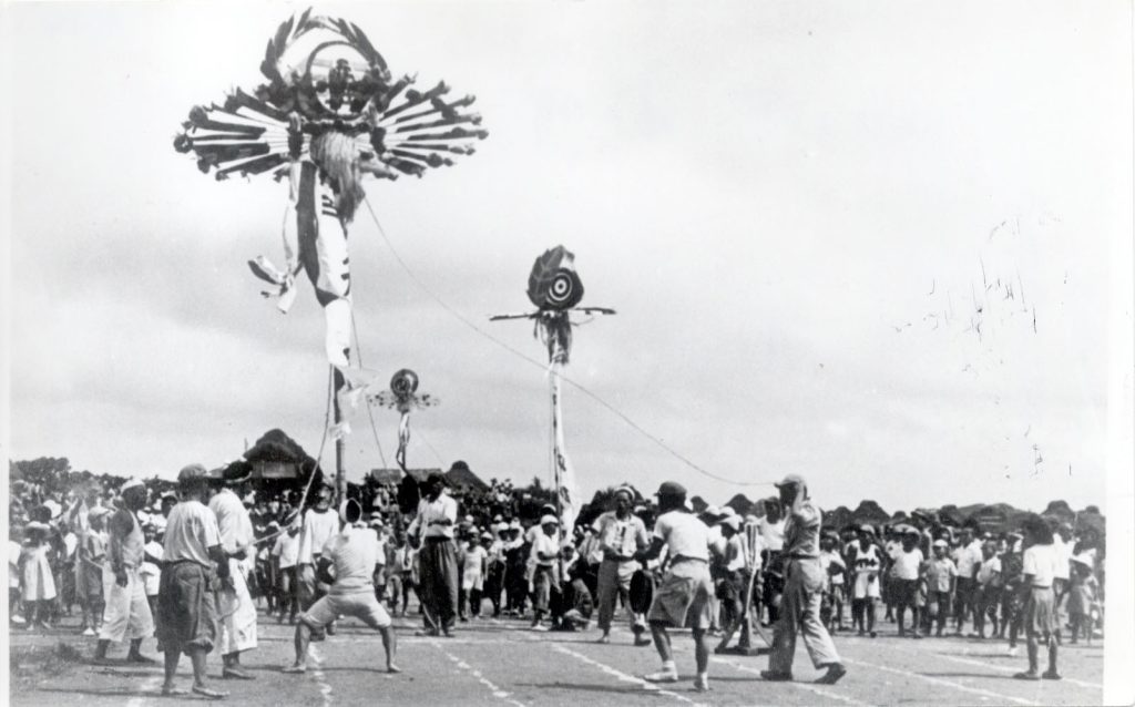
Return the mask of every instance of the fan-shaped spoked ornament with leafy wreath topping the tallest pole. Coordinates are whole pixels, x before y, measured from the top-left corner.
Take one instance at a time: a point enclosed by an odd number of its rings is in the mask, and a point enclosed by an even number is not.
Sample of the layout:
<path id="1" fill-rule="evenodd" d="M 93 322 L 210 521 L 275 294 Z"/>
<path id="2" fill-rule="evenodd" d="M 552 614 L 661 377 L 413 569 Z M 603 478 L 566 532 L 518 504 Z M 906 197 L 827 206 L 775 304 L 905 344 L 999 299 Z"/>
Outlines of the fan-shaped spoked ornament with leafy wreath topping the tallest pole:
<path id="1" fill-rule="evenodd" d="M 316 49 L 301 51 L 296 43 L 308 35 L 318 40 Z M 310 8 L 277 27 L 260 71 L 267 83 L 237 89 L 220 106 L 194 107 L 174 138 L 178 152 L 192 152 L 218 179 L 264 172 L 279 179 L 287 162 L 328 131 L 364 138 L 360 159 L 388 168 L 364 171 L 418 177 L 452 166 L 446 154 L 473 154 L 472 143 L 488 136 L 480 113 L 463 110 L 472 95 L 446 102 L 445 82 L 418 91 L 412 75 L 392 81 L 386 59 L 358 25 Z M 293 119 L 297 126 L 289 126 Z"/>

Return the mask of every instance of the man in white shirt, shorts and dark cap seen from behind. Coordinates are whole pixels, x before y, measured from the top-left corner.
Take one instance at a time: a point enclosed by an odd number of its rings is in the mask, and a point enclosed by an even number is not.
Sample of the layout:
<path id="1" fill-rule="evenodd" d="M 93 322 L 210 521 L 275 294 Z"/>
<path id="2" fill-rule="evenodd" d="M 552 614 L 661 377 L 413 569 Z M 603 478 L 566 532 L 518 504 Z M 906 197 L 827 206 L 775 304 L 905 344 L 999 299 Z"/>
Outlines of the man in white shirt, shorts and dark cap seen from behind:
<path id="1" fill-rule="evenodd" d="M 650 547 L 639 550 L 634 558 L 646 564 L 667 549 L 667 567 L 654 603 L 647 614 L 655 648 L 662 658 L 662 670 L 646 675 L 650 682 L 678 682 L 673 649 L 666 628 L 690 628 L 693 636 L 693 659 L 698 674 L 693 689 L 709 689 L 709 529 L 686 506 L 686 489 L 673 481 L 658 488 L 658 520 L 654 524 Z"/>

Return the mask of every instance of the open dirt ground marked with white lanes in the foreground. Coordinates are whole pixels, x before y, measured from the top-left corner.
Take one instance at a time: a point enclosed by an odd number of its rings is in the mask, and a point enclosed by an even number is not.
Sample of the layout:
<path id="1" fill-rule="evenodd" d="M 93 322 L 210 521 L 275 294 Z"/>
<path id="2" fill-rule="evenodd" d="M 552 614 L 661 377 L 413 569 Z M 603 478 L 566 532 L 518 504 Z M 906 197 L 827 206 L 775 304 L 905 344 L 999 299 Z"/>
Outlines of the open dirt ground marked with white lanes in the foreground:
<path id="1" fill-rule="evenodd" d="M 74 621 L 43 632 L 11 631 L 11 704 L 107 707 L 202 701 L 161 698 L 161 667 L 89 663 L 94 639 L 78 636 Z M 335 637 L 313 643 L 312 668 L 303 675 L 281 674 L 292 660 L 293 628 L 261 616 L 260 646 L 243 662 L 254 681 L 220 680 L 220 658 L 209 657 L 212 687 L 230 692 L 226 701 L 254 707 L 278 705 L 417 704 L 531 705 L 588 707 L 600 705 L 1099 705 L 1103 685 L 1103 646 L 1065 646 L 1063 680 L 1024 682 L 1012 674 L 1025 667 L 1024 646 L 1007 655 L 1003 641 L 965 638 L 900 639 L 883 624 L 877 639 L 836 634 L 848 667 L 836 685 L 818 685 L 802 641 L 794 682 L 770 683 L 759 672 L 767 657 L 714 656 L 712 691 L 692 691 L 693 654 L 688 633 L 674 636 L 682 680 L 656 687 L 640 675 L 657 670 L 653 647 L 636 648 L 625 629 L 609 645 L 595 643 L 596 631 L 537 633 L 516 620 L 481 618 L 459 624 L 455 637 L 418 638 L 417 617 L 395 620 L 398 664 L 404 672 L 382 672 L 377 633 L 353 620 L 342 622 Z M 771 637 L 771 633 L 766 633 Z M 143 651 L 154 654 L 152 640 Z M 111 657 L 125 656 L 116 646 Z M 178 676 L 188 687 L 188 660 Z"/>

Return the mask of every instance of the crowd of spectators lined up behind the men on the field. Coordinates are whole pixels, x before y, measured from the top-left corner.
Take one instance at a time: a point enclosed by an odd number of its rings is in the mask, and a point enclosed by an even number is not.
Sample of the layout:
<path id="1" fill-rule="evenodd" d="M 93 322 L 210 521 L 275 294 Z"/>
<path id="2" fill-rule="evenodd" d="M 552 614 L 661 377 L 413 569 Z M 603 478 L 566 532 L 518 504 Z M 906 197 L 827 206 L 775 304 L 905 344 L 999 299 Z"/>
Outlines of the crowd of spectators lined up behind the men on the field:
<path id="1" fill-rule="evenodd" d="M 106 531 L 100 510 L 119 505 L 116 490 L 124 479 L 75 474 L 68 469 L 39 465 L 35 473 L 11 468 L 9 495 L 9 615 L 16 626 L 42 630 L 78 611 L 79 630 L 92 634 L 101 621 L 102 567 Z M 165 519 L 176 503 L 173 483 L 145 482 L 148 502 L 138 513 L 146 539 L 148 595 L 157 594 Z M 405 612 L 415 584 L 414 549 L 404 529 L 412 520 L 406 485 L 367 479 L 351 485 L 348 496 L 367 510 L 360 524 L 372 528 L 386 558 L 376 591 L 394 611 Z M 412 485 L 411 485 L 412 486 Z M 515 487 L 493 479 L 488 488 L 451 488 L 459 502 L 455 537 L 462 578 L 463 620 L 481 614 L 488 600 L 494 615 L 532 617 L 536 625 L 572 630 L 590 625 L 592 597 L 598 591 L 602 553 L 596 519 L 607 510 L 613 489 L 596 495 L 580 510 L 578 522 L 563 533 L 558 562 L 549 572 L 547 597 L 539 601 L 533 579 L 533 544 L 541 525 L 556 517 L 554 494 L 538 481 Z M 252 594 L 278 615 L 295 617 L 295 582 L 288 581 L 289 540 L 295 537 L 303 485 L 251 481 L 239 489 L 258 538 Z M 310 500 L 310 499 L 309 499 Z M 407 507 L 409 505 L 409 507 Z M 633 513 L 653 525 L 651 504 L 634 493 Z M 699 514 L 715 530 L 714 578 L 718 605 L 712 631 L 723 645 L 735 629 L 739 607 L 746 606 L 756 625 L 776 620 L 783 587 L 779 557 L 776 504 L 760 504 L 740 515 L 729 506 L 707 506 Z M 79 521 L 87 524 L 81 532 Z M 1058 576 L 1058 605 L 1065 612 L 1070 639 L 1100 638 L 1105 586 L 1104 538 L 1095 529 L 1050 519 L 1054 545 L 1067 567 Z M 825 528 L 827 567 L 824 617 L 832 631 L 875 637 L 882 624 L 894 623 L 899 636 L 941 636 L 962 632 L 974 638 L 1007 639 L 1016 646 L 1019 626 L 1018 587 L 1023 538 L 1018 528 L 984 530 L 975 521 L 956 522 L 925 511 L 905 522 L 855 523 Z M 730 548 L 733 549 L 730 549 Z M 289 565 L 289 563 L 292 563 Z M 627 603 L 629 598 L 623 597 Z M 876 616 L 876 607 L 881 617 Z M 908 617 L 909 616 L 909 622 Z"/>

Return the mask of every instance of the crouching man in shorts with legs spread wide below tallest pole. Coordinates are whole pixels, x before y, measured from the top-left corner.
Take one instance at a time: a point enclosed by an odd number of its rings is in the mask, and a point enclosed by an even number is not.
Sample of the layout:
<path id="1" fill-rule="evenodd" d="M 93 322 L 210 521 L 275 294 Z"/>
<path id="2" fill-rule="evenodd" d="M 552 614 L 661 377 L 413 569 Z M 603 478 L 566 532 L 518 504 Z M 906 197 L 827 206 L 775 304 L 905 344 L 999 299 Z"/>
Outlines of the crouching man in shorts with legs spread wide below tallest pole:
<path id="1" fill-rule="evenodd" d="M 401 672 L 394 664 L 395 639 L 390 616 L 375 597 L 375 567 L 378 565 L 377 545 L 373 532 L 368 528 L 355 528 L 362 517 L 362 506 L 353 498 L 339 505 L 343 532 L 333 536 L 322 547 L 317 576 L 330 584 L 330 590 L 309 609 L 300 614 L 295 625 L 295 663 L 284 668 L 285 673 L 303 673 L 308 670 L 308 643 L 312 632 L 322 632 L 337 616 L 354 616 L 382 636 L 386 649 L 386 671 Z M 367 537 L 370 533 L 371 537 Z M 334 567 L 334 576 L 329 570 Z"/>

